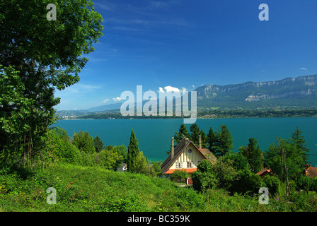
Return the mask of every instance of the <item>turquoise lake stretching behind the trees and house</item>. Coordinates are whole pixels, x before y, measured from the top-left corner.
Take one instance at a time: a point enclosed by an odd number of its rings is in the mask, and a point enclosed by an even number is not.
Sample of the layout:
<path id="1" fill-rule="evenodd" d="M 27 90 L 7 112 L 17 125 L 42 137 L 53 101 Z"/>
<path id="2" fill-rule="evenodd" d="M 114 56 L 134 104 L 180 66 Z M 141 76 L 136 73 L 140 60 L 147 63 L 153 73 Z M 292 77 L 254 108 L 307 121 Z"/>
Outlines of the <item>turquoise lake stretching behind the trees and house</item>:
<path id="1" fill-rule="evenodd" d="M 299 126 L 311 149 L 309 161 L 317 165 L 317 118 L 241 118 L 241 119 L 197 119 L 197 125 L 208 133 L 210 126 L 214 131 L 225 124 L 234 140 L 234 151 L 248 144 L 248 138 L 254 137 L 262 151 L 267 150 L 276 138 L 289 138 Z M 105 145 L 129 145 L 131 130 L 139 142 L 139 150 L 151 161 L 165 160 L 170 150 L 171 137 L 178 131 L 183 119 L 82 119 L 60 120 L 55 126 L 65 129 L 72 137 L 74 132 L 88 131 L 99 136 Z M 190 124 L 186 125 L 190 128 Z"/>

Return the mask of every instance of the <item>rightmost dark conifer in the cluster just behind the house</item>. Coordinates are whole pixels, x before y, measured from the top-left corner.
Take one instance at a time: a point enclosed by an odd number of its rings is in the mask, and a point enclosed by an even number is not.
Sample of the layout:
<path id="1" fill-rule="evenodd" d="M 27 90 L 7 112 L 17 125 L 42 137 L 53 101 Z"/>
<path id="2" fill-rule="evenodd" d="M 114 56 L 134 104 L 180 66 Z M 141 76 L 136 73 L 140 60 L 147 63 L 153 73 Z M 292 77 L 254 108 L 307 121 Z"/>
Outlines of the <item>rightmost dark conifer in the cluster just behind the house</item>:
<path id="1" fill-rule="evenodd" d="M 231 133 L 226 125 L 220 125 L 216 132 L 217 141 L 214 145 L 214 152 L 217 157 L 225 155 L 229 150 L 234 149 Z"/>

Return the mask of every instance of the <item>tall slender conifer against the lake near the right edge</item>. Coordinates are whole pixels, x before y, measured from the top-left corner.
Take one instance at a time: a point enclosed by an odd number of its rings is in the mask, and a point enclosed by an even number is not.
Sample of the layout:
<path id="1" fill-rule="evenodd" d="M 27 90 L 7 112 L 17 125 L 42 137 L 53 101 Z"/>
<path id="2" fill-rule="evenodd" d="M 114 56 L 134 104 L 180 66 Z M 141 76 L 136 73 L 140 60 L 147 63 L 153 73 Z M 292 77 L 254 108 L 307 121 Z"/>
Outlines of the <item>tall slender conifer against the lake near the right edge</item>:
<path id="1" fill-rule="evenodd" d="M 304 136 L 301 136 L 301 130 L 299 129 L 299 126 L 296 127 L 295 131 L 291 135 L 291 143 L 295 146 L 296 150 L 299 151 L 299 154 L 301 155 L 303 159 L 303 168 L 306 166 L 306 164 L 309 164 L 309 154 L 307 154 L 310 150 L 309 148 L 306 148 L 306 141 L 304 139 Z"/>

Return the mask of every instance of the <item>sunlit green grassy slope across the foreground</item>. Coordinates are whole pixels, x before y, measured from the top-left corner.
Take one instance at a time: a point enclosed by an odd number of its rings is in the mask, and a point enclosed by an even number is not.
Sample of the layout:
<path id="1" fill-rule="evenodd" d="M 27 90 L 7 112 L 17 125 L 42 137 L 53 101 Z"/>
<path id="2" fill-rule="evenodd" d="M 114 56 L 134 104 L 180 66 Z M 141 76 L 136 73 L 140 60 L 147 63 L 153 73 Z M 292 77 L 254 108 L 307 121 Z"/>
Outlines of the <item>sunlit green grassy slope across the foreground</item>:
<path id="1" fill-rule="evenodd" d="M 46 202 L 49 187 L 57 190 L 56 204 Z M 0 211 L 307 211 L 307 205 L 317 209 L 316 194 L 297 196 L 299 207 L 282 198 L 260 205 L 258 195 L 229 196 L 223 190 L 199 194 L 168 179 L 75 165 L 0 174 Z"/>

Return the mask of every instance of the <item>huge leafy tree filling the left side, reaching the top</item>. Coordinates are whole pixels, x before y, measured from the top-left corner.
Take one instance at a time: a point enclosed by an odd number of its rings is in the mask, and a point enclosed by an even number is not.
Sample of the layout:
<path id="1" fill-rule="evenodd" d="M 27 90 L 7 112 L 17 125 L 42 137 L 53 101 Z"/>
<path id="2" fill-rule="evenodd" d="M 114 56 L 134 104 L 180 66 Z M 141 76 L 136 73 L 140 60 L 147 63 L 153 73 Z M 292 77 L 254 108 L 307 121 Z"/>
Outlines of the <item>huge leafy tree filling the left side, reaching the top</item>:
<path id="1" fill-rule="evenodd" d="M 102 35 L 93 1 L 54 2 L 57 20 L 47 20 L 49 0 L 0 1 L 0 152 L 2 164 L 31 166 L 42 156 L 54 106 Z M 28 159 L 28 160 L 27 160 Z"/>

